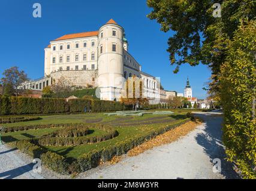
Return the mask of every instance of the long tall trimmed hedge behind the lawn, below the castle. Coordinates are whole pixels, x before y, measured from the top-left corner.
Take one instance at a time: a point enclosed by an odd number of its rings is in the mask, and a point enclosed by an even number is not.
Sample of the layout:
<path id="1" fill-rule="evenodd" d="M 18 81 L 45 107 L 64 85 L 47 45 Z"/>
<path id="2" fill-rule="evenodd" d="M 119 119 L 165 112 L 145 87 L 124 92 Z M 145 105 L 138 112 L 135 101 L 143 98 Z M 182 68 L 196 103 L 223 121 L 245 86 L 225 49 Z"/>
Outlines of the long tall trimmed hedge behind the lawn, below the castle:
<path id="1" fill-rule="evenodd" d="M 51 113 L 108 112 L 129 109 L 124 104 L 106 100 L 64 98 L 28 98 L 0 96 L 0 115 L 30 115 Z"/>

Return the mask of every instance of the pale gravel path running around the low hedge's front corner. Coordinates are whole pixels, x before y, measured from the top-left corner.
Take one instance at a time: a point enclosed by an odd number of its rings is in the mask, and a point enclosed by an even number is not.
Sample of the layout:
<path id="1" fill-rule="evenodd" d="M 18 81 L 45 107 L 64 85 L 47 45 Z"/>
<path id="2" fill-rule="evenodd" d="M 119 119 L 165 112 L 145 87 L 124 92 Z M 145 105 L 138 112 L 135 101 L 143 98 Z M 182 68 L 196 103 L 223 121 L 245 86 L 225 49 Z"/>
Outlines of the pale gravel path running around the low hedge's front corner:
<path id="1" fill-rule="evenodd" d="M 180 140 L 83 172 L 77 178 L 238 178 L 224 161 L 222 117 L 218 114 L 197 113 L 204 123 Z M 215 158 L 221 159 L 221 172 L 212 170 Z M 0 145 L 0 178 L 70 178 L 45 168 L 43 173 L 35 173 L 33 165 L 23 153 Z"/>

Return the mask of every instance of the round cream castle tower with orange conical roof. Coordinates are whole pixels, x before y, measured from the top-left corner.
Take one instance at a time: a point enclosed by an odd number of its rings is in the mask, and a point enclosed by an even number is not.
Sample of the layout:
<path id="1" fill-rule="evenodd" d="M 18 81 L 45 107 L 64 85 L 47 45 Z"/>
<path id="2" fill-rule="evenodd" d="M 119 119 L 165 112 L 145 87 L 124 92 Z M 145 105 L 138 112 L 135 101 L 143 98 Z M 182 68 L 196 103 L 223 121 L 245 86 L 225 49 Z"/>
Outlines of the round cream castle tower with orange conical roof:
<path id="1" fill-rule="evenodd" d="M 124 68 L 124 29 L 113 19 L 98 35 L 98 85 L 101 100 L 119 100 Z"/>

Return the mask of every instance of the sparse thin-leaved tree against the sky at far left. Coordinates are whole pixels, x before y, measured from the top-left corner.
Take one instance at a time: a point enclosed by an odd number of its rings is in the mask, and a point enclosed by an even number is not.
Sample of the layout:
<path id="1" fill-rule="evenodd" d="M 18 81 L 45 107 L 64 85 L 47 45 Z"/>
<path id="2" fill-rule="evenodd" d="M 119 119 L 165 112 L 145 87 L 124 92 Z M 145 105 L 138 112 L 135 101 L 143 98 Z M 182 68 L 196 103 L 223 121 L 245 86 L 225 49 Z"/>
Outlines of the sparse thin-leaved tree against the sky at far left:
<path id="1" fill-rule="evenodd" d="M 19 67 L 14 66 L 5 70 L 2 75 L 4 75 L 4 78 L 1 79 L 4 86 L 4 94 L 19 96 L 20 91 L 22 91 L 22 84 L 28 81 L 26 73 L 23 70 L 19 71 Z"/>

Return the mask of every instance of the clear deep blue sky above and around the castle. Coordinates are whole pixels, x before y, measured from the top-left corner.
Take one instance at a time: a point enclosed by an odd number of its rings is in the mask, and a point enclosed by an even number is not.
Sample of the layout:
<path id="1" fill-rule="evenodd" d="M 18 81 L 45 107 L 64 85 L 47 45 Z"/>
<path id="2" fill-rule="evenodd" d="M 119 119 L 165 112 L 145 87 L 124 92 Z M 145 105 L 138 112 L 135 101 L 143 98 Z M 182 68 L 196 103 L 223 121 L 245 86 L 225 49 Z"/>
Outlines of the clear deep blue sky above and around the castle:
<path id="1" fill-rule="evenodd" d="M 32 16 L 32 5 L 39 2 L 42 18 Z M 11 66 L 19 66 L 36 79 L 44 75 L 44 48 L 50 40 L 68 33 L 98 30 L 109 19 L 124 27 L 129 53 L 142 65 L 143 72 L 159 76 L 165 90 L 183 93 L 189 76 L 193 97 L 205 98 L 202 90 L 210 78 L 210 69 L 185 64 L 173 73 L 167 53 L 167 40 L 173 32 L 161 32 L 155 20 L 147 19 L 146 0 L 1 0 L 0 78 Z"/>

